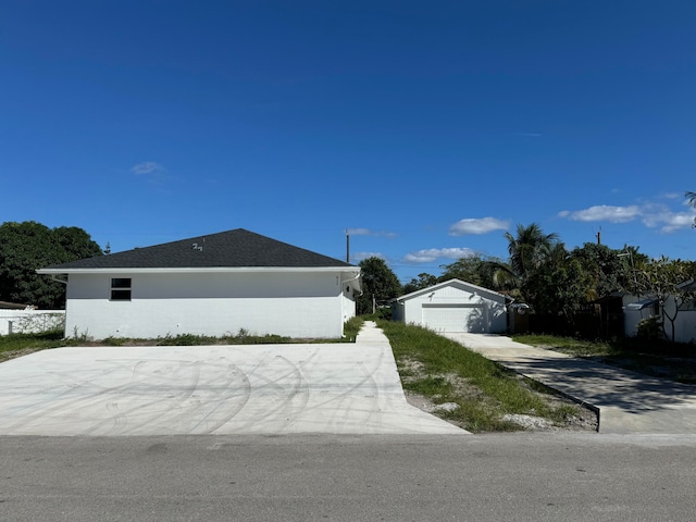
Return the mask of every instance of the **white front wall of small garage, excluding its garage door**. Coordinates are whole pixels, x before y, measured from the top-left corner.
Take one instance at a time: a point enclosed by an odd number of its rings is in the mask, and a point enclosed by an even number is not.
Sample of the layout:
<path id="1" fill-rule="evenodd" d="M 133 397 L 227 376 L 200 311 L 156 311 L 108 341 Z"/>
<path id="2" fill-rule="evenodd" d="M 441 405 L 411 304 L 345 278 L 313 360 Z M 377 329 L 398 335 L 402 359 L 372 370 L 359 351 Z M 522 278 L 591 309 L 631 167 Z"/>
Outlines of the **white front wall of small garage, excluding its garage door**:
<path id="1" fill-rule="evenodd" d="M 508 326 L 505 297 L 498 298 L 495 294 L 487 294 L 482 289 L 470 289 L 453 282 L 451 285 L 405 299 L 402 306 L 395 303 L 394 316 L 406 323 L 425 325 L 424 313 L 437 313 L 433 310 L 435 308 L 446 309 L 447 306 L 471 308 L 472 323 L 465 325 L 462 332 L 504 333 Z M 482 308 L 483 315 L 478 315 L 477 311 Z"/>

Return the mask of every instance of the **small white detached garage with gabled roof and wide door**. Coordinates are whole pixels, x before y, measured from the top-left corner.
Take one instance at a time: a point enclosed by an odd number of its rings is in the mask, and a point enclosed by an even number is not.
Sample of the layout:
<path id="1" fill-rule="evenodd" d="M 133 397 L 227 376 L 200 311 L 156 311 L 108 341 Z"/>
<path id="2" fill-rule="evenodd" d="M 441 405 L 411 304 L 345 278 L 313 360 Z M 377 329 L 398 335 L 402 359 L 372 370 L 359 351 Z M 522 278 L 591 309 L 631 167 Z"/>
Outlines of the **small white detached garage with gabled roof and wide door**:
<path id="1" fill-rule="evenodd" d="M 502 294 L 460 279 L 449 279 L 391 301 L 391 318 L 435 332 L 505 333 Z"/>

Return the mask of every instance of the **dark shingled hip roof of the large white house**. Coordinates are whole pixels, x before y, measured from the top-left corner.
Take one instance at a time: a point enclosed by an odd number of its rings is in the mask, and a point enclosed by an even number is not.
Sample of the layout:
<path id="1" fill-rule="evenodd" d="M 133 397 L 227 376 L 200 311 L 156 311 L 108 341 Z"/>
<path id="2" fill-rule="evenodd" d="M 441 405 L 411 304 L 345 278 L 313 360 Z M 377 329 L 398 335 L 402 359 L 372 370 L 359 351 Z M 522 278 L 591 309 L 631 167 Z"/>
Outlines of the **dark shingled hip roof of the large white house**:
<path id="1" fill-rule="evenodd" d="M 352 266 L 337 259 L 237 228 L 209 236 L 136 248 L 48 266 L 70 269 L 203 269 L 203 268 Z"/>

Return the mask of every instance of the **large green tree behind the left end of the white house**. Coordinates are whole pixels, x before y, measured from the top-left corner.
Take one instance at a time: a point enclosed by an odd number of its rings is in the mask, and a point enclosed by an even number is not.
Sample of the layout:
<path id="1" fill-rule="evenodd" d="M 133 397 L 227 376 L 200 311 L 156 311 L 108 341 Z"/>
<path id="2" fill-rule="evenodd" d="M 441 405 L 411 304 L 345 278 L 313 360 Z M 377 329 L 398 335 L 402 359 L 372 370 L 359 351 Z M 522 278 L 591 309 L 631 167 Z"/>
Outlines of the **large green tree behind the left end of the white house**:
<path id="1" fill-rule="evenodd" d="M 42 309 L 65 306 L 65 285 L 37 269 L 101 256 L 89 234 L 75 226 L 49 228 L 34 221 L 0 225 L 0 300 Z"/>

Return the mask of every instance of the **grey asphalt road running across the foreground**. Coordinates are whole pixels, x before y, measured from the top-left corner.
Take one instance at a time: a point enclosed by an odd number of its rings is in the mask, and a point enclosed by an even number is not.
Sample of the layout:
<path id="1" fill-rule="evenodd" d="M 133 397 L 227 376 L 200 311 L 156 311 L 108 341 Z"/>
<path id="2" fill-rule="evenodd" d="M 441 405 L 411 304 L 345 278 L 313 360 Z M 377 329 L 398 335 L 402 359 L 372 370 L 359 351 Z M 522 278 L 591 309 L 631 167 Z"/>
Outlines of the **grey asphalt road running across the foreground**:
<path id="1" fill-rule="evenodd" d="M 696 436 L 0 437 L 2 521 L 669 521 Z"/>

